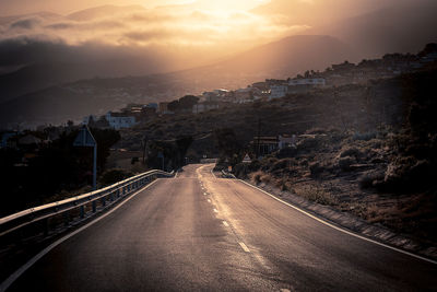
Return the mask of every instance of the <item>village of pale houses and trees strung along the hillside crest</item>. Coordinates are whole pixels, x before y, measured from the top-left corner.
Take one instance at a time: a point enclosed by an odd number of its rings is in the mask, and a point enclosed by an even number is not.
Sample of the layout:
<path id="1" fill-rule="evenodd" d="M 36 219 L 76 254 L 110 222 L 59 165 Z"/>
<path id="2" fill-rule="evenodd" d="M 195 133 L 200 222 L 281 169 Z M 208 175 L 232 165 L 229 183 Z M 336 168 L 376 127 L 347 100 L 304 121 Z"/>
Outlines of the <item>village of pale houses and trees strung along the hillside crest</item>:
<path id="1" fill-rule="evenodd" d="M 287 94 L 307 93 L 318 89 L 329 89 L 345 84 L 367 84 L 371 80 L 390 79 L 400 74 L 415 72 L 426 68 L 437 60 L 437 45 L 429 44 L 418 55 L 388 54 L 381 59 L 363 60 L 355 65 L 349 61 L 332 65 L 323 72 L 306 71 L 295 78 L 286 80 L 267 79 L 256 82 L 245 89 L 216 89 L 203 92 L 201 95 L 187 95 L 178 104 L 161 102 L 149 104 L 129 104 L 120 113 L 107 113 L 105 116 L 86 116 L 84 125 L 90 121 L 99 128 L 130 128 L 149 120 L 156 115 L 173 115 L 177 113 L 200 114 L 222 108 L 232 104 L 248 104 L 253 102 L 269 102 Z M 187 98 L 190 100 L 187 102 Z M 179 100 L 179 101 L 181 101 Z"/>

